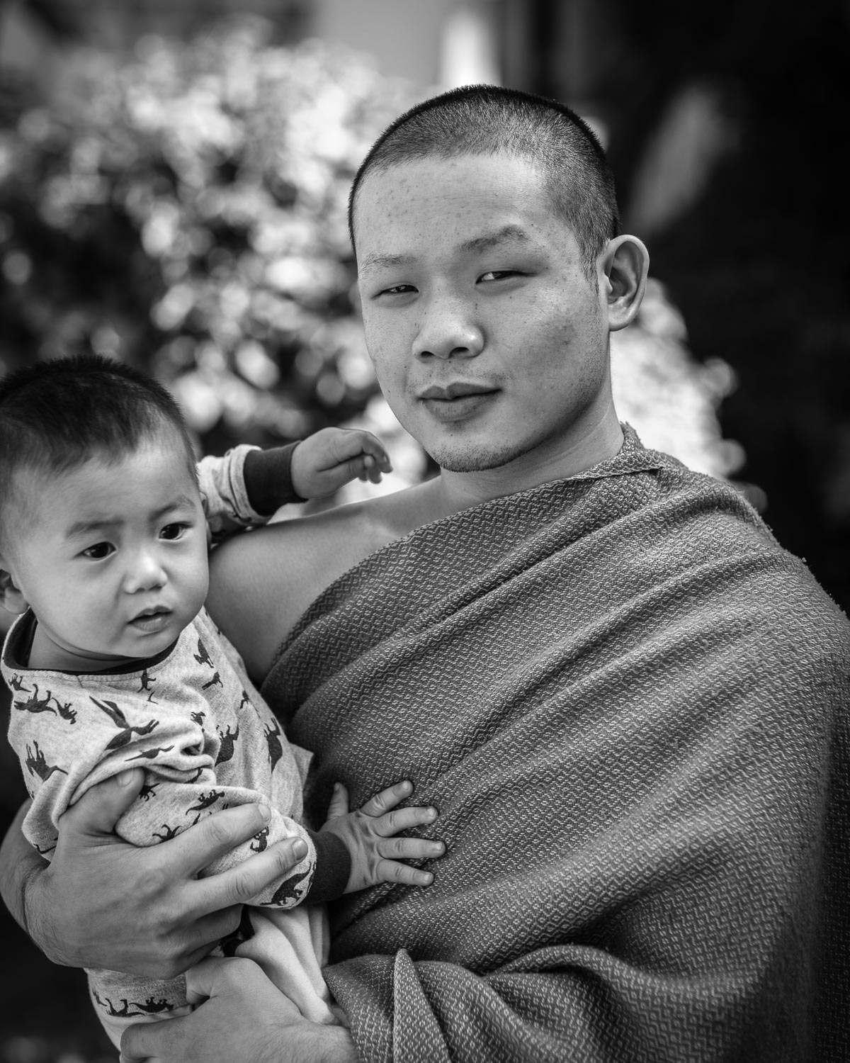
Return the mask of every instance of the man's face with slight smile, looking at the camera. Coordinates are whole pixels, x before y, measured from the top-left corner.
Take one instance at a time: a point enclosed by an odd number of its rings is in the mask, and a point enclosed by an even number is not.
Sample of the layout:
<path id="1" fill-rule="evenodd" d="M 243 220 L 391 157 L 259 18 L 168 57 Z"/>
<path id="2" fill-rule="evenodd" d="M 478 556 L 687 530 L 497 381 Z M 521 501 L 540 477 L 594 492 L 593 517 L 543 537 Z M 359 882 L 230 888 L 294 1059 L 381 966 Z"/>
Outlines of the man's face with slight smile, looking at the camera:
<path id="1" fill-rule="evenodd" d="M 532 166 L 426 158 L 355 210 L 366 337 L 395 416 L 444 469 L 558 461 L 612 416 L 605 276 Z"/>

